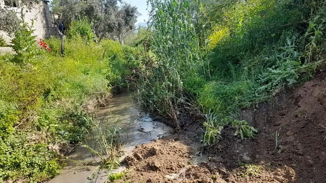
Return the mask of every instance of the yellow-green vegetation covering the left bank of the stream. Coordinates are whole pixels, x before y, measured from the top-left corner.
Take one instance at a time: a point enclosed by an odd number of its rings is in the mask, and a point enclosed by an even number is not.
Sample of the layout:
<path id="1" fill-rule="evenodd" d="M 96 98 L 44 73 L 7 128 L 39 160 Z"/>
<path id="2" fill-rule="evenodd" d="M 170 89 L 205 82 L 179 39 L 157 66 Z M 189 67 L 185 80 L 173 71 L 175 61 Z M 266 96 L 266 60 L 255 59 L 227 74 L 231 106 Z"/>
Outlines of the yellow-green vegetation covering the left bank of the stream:
<path id="1" fill-rule="evenodd" d="M 11 43 L 17 54 L 0 56 L 0 182 L 42 182 L 58 175 L 64 165 L 59 159 L 88 131 L 101 139 L 106 151 L 98 153 L 109 156 L 106 165 L 116 165 L 118 132 L 95 130 L 100 126 L 94 108 L 103 105 L 103 97 L 134 87 L 140 49 L 104 38 L 101 44 L 89 41 L 85 24 L 71 24 L 74 32 L 61 55 L 60 39 L 35 42 L 34 30 L 24 23 Z"/>

